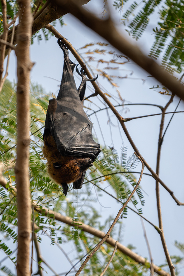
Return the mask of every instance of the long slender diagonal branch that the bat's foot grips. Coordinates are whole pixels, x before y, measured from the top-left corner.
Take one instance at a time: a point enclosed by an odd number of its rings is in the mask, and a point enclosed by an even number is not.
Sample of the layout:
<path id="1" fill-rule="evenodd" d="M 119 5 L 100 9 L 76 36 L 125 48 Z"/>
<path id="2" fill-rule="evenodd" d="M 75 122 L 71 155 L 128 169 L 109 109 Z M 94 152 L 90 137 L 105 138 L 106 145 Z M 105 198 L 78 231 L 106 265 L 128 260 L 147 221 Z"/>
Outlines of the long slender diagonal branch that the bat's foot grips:
<path id="1" fill-rule="evenodd" d="M 81 67 L 85 71 L 87 77 L 89 79 L 92 79 L 93 78 L 92 75 L 88 71 L 85 63 L 83 62 L 83 60 L 81 59 L 81 57 L 78 55 L 77 51 L 74 49 L 74 47 L 72 46 L 72 44 L 70 42 L 68 42 L 68 40 L 65 39 L 65 37 L 63 37 L 58 31 L 56 31 L 56 29 L 51 24 L 46 25 L 45 28 L 47 28 L 48 30 L 50 30 L 55 35 L 55 37 L 62 38 L 62 42 L 64 44 L 66 44 L 67 47 L 70 49 L 70 51 L 72 52 L 72 54 L 74 55 L 74 57 L 76 58 L 76 60 L 78 61 L 78 63 L 81 65 Z M 130 134 L 129 134 L 126 126 L 125 126 L 125 123 L 123 121 L 124 118 L 115 109 L 114 105 L 108 100 L 108 98 L 106 97 L 106 95 L 101 91 L 101 89 L 99 88 L 99 86 L 97 85 L 97 83 L 95 81 L 92 82 L 92 85 L 93 85 L 95 91 L 103 98 L 103 100 L 106 102 L 106 104 L 110 107 L 110 109 L 112 110 L 112 112 L 117 117 L 119 123 L 121 124 L 121 126 L 122 126 L 122 128 L 123 128 L 123 130 L 125 132 L 125 135 L 126 135 L 128 141 L 130 142 L 131 146 L 133 147 L 133 149 L 135 150 L 135 152 L 137 153 L 137 155 L 143 161 L 144 165 L 147 167 L 147 169 L 153 175 L 153 178 L 155 178 L 155 180 L 158 180 L 160 182 L 160 184 L 166 189 L 166 191 L 169 192 L 169 194 L 172 196 L 172 198 L 177 203 L 177 205 L 184 205 L 184 202 L 180 202 L 176 198 L 176 196 L 174 196 L 174 192 L 171 189 L 169 189 L 169 187 L 167 187 L 167 185 L 159 178 L 159 176 L 153 171 L 153 169 L 149 166 L 149 164 L 146 162 L 146 160 L 142 157 L 142 155 L 140 154 L 138 148 L 136 147 L 135 143 L 133 142 L 133 139 L 131 138 L 131 136 L 130 136 Z"/>

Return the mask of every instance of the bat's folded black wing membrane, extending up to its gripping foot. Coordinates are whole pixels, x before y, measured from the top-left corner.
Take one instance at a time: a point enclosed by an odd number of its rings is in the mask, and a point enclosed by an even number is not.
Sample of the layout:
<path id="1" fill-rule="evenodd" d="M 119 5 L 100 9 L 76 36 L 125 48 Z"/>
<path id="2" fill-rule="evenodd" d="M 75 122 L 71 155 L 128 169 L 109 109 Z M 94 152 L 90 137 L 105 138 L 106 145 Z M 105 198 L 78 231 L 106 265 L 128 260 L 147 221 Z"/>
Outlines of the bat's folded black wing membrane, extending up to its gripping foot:
<path id="1" fill-rule="evenodd" d="M 59 40 L 58 43 L 64 52 L 63 75 L 57 99 L 49 101 L 44 133 L 50 130 L 62 155 L 85 156 L 94 160 L 101 151 L 100 144 L 93 140 L 92 122 L 83 110 L 76 88 L 75 64 L 69 59 L 62 42 Z"/>

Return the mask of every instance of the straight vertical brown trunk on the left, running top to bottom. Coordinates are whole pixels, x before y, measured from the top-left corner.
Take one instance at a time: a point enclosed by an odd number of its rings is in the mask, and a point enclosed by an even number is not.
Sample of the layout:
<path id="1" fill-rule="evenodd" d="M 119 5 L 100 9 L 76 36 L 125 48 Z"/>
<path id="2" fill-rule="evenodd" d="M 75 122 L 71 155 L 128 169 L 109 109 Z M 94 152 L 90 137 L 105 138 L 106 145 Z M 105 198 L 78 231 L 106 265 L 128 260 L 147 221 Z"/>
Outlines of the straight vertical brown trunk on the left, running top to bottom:
<path id="1" fill-rule="evenodd" d="M 30 275 L 29 244 L 31 233 L 31 196 L 29 185 L 29 75 L 33 66 L 29 58 L 32 16 L 29 0 L 19 0 L 25 5 L 20 11 L 21 22 L 17 28 L 17 162 L 15 177 L 17 183 L 18 209 L 18 253 L 17 275 Z M 22 13 L 21 13 L 22 12 Z"/>

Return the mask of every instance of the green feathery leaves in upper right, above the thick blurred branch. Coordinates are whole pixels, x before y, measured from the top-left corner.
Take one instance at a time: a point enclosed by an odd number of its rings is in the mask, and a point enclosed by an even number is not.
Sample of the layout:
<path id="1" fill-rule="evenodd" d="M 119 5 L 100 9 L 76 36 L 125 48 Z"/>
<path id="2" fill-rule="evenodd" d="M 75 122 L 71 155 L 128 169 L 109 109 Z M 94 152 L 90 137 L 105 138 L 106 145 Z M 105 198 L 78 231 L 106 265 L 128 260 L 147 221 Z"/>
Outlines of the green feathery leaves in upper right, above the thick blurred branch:
<path id="1" fill-rule="evenodd" d="M 128 3 L 127 3 L 128 2 Z M 132 3 L 133 2 L 133 3 Z M 124 1 L 125 3 L 125 1 Z M 114 6 L 122 9 L 122 1 L 117 0 Z M 127 8 L 128 5 L 128 8 Z M 129 35 L 136 40 L 145 33 L 149 24 L 153 28 L 154 42 L 149 56 L 162 59 L 162 67 L 169 73 L 181 73 L 184 62 L 184 1 L 126 1 L 123 6 L 121 21 L 128 26 Z M 159 13 L 159 21 L 156 16 Z M 147 37 L 148 33 L 146 33 Z M 149 34 L 151 35 L 151 34 Z"/>

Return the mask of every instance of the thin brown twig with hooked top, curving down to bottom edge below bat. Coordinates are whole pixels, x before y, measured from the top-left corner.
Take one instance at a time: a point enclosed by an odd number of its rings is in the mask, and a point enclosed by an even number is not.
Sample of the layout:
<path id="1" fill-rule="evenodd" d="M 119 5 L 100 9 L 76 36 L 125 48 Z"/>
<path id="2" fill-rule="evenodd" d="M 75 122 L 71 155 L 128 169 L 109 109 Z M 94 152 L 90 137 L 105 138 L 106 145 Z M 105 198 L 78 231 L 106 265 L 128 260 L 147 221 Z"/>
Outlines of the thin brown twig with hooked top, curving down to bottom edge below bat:
<path id="1" fill-rule="evenodd" d="M 135 153 L 135 155 L 139 158 L 139 156 Z M 140 158 L 139 158 L 140 159 Z M 141 163 L 142 163 L 142 170 L 141 170 L 141 174 L 140 174 L 140 178 L 137 182 L 137 184 L 135 185 L 135 188 L 133 189 L 133 191 L 131 192 L 130 196 L 128 197 L 128 199 L 126 200 L 126 202 L 124 203 L 124 205 L 122 206 L 122 208 L 119 209 L 119 212 L 116 216 L 116 218 L 114 219 L 112 225 L 110 226 L 107 234 L 103 237 L 103 239 L 98 243 L 98 245 L 96 246 L 96 248 L 90 253 L 89 256 L 87 256 L 87 258 L 85 259 L 85 261 L 83 262 L 83 264 L 81 265 L 81 267 L 79 268 L 79 270 L 77 271 L 77 273 L 75 274 L 75 276 L 78 276 L 81 271 L 83 270 L 83 268 L 85 267 L 85 265 L 87 264 L 87 262 L 91 259 L 91 257 L 97 252 L 97 250 L 100 248 L 100 246 L 109 238 L 110 236 L 110 232 L 112 231 L 115 223 L 118 221 L 119 216 L 121 215 L 121 213 L 123 212 L 123 210 L 125 209 L 126 205 L 128 204 L 128 202 L 131 200 L 133 194 L 135 193 L 136 189 L 138 188 L 140 181 L 142 179 L 142 173 L 144 170 L 144 163 L 142 162 L 142 160 L 140 159 Z"/>

